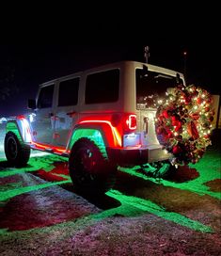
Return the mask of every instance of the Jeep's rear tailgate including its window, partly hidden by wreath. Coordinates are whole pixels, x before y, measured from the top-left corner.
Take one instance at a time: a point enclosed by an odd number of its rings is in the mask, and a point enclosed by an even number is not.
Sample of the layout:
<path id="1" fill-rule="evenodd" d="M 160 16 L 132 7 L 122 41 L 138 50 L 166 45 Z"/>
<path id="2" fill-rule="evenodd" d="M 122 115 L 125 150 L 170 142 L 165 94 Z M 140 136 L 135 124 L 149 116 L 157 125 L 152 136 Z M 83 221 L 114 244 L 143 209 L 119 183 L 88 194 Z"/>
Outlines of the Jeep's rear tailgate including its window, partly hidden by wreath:
<path id="1" fill-rule="evenodd" d="M 163 103 L 168 88 L 174 88 L 183 81 L 178 76 L 149 71 L 146 66 L 135 70 L 136 115 L 138 131 L 144 132 L 148 145 L 158 144 L 155 133 L 155 115 Z"/>

